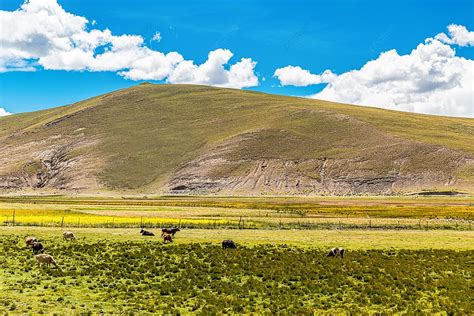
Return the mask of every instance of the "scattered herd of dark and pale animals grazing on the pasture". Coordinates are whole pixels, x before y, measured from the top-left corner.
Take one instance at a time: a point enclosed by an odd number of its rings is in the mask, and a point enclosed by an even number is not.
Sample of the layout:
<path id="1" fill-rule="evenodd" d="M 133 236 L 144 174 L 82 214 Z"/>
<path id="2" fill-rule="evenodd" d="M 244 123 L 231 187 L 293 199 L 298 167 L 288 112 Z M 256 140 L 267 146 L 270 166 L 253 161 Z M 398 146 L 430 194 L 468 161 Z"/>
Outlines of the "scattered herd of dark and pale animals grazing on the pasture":
<path id="1" fill-rule="evenodd" d="M 161 237 L 163 238 L 164 243 L 173 242 L 174 235 L 179 232 L 179 228 L 163 228 L 161 230 Z M 143 228 L 140 230 L 140 234 L 142 236 L 155 236 L 154 233 L 144 230 Z M 63 232 L 64 240 L 76 240 L 76 236 L 70 231 Z M 42 265 L 46 265 L 49 267 L 51 264 L 55 267 L 58 267 L 56 261 L 54 260 L 53 256 L 43 253 L 44 247 L 43 244 L 34 236 L 28 236 L 25 238 L 25 243 L 27 248 L 31 248 L 35 254 L 36 262 L 38 267 Z M 226 239 L 222 241 L 222 249 L 236 249 L 237 244 L 230 239 Z M 341 259 L 344 258 L 344 248 L 335 247 L 332 248 L 329 253 L 326 255 L 327 257 L 340 257 Z"/>

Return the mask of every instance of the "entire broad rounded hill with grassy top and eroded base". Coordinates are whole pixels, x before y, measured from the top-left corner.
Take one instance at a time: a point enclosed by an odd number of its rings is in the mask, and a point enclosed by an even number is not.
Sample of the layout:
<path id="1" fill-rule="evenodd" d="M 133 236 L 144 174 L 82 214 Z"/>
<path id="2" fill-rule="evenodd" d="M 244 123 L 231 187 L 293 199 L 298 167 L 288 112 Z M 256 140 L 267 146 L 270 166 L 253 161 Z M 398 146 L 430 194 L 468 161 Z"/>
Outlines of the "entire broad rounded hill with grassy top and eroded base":
<path id="1" fill-rule="evenodd" d="M 2 193 L 473 188 L 473 119 L 149 83 L 0 118 Z"/>

